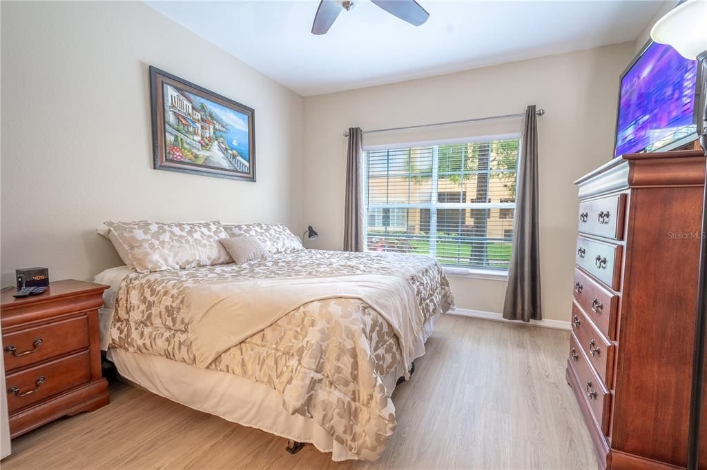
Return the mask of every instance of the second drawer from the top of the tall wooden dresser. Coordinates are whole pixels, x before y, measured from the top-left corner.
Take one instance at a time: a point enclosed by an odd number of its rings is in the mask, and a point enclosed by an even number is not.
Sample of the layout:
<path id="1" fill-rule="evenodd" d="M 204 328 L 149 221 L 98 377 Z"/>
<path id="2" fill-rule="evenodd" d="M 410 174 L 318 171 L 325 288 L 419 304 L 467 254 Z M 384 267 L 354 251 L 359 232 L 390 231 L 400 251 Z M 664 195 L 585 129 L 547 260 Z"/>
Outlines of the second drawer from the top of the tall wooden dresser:
<path id="1" fill-rule="evenodd" d="M 621 278 L 621 245 L 602 243 L 578 237 L 575 253 L 577 265 L 614 290 Z"/>

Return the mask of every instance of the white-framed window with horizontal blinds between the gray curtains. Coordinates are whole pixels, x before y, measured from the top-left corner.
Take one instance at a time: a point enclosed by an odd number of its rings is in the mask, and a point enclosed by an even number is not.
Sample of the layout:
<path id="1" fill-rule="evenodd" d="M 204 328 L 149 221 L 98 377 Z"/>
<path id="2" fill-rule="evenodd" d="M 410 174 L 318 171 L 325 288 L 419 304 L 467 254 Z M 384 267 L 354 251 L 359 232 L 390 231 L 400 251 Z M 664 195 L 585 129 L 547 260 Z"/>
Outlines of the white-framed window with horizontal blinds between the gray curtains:
<path id="1" fill-rule="evenodd" d="M 518 138 L 366 150 L 366 249 L 508 270 Z"/>

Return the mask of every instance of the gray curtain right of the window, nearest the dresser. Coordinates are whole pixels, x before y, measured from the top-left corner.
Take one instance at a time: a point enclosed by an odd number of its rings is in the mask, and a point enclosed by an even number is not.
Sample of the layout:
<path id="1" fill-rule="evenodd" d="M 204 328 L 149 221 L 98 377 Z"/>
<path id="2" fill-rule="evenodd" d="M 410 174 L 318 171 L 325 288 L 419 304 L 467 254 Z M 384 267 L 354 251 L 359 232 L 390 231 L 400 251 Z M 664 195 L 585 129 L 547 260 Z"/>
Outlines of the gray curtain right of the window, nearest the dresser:
<path id="1" fill-rule="evenodd" d="M 537 114 L 525 110 L 525 124 L 518 156 L 518 183 L 515 189 L 513 250 L 508 267 L 508 289 L 503 318 L 542 320 L 540 295 L 540 238 L 538 221 Z"/>

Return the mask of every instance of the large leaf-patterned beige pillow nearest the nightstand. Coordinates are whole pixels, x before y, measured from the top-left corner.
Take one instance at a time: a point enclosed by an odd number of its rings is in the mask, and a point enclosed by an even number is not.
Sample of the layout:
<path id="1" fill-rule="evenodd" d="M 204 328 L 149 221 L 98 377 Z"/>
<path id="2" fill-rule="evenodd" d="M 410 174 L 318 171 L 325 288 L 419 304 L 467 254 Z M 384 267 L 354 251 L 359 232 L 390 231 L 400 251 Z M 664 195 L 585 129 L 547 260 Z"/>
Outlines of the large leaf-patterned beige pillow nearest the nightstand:
<path id="1" fill-rule="evenodd" d="M 104 222 L 138 272 L 181 270 L 231 263 L 218 239 L 221 222 Z M 114 240 L 115 238 L 115 240 Z M 128 263 L 126 263 L 128 264 Z"/>

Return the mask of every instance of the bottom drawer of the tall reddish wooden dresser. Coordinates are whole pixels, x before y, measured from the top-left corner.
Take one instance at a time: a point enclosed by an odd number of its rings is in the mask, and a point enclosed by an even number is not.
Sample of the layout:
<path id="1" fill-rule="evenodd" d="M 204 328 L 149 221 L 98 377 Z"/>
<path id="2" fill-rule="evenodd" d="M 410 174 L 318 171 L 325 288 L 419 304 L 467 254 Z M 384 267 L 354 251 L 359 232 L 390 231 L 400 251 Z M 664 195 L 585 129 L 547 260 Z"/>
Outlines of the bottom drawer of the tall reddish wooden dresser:
<path id="1" fill-rule="evenodd" d="M 570 363 L 575 375 L 579 379 L 582 387 L 582 395 L 589 404 L 589 408 L 594 415 L 597 427 L 604 435 L 609 433 L 609 415 L 611 409 L 611 394 L 604 383 L 597 377 L 592 366 L 590 366 L 587 356 L 579 346 L 574 333 L 570 335 Z"/>

